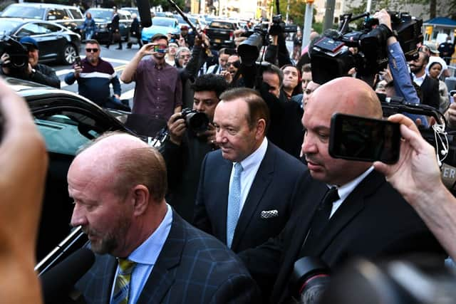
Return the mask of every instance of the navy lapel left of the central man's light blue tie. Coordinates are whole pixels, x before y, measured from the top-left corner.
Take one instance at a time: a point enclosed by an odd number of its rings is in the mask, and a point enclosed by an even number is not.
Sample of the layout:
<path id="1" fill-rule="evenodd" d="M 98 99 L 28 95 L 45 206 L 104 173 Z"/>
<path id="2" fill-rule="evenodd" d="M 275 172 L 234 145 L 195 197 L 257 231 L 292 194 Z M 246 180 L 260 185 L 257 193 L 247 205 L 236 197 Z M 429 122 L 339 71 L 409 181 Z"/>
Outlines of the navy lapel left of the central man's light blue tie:
<path id="1" fill-rule="evenodd" d="M 215 180 L 217 184 L 220 185 L 218 189 L 211 189 L 209 191 L 217 192 L 218 200 L 214 201 L 217 204 L 217 209 L 220 211 L 215 215 L 220 214 L 219 219 L 217 219 L 217 226 L 219 226 L 219 231 L 222 231 L 220 235 L 222 243 L 227 243 L 227 214 L 228 214 L 228 192 L 229 192 L 229 177 L 231 177 L 231 171 L 233 169 L 232 162 L 229 162 L 227 159 L 222 159 L 223 163 L 220 166 L 220 169 L 217 170 L 215 174 Z M 212 223 L 214 225 L 214 223 Z"/>

